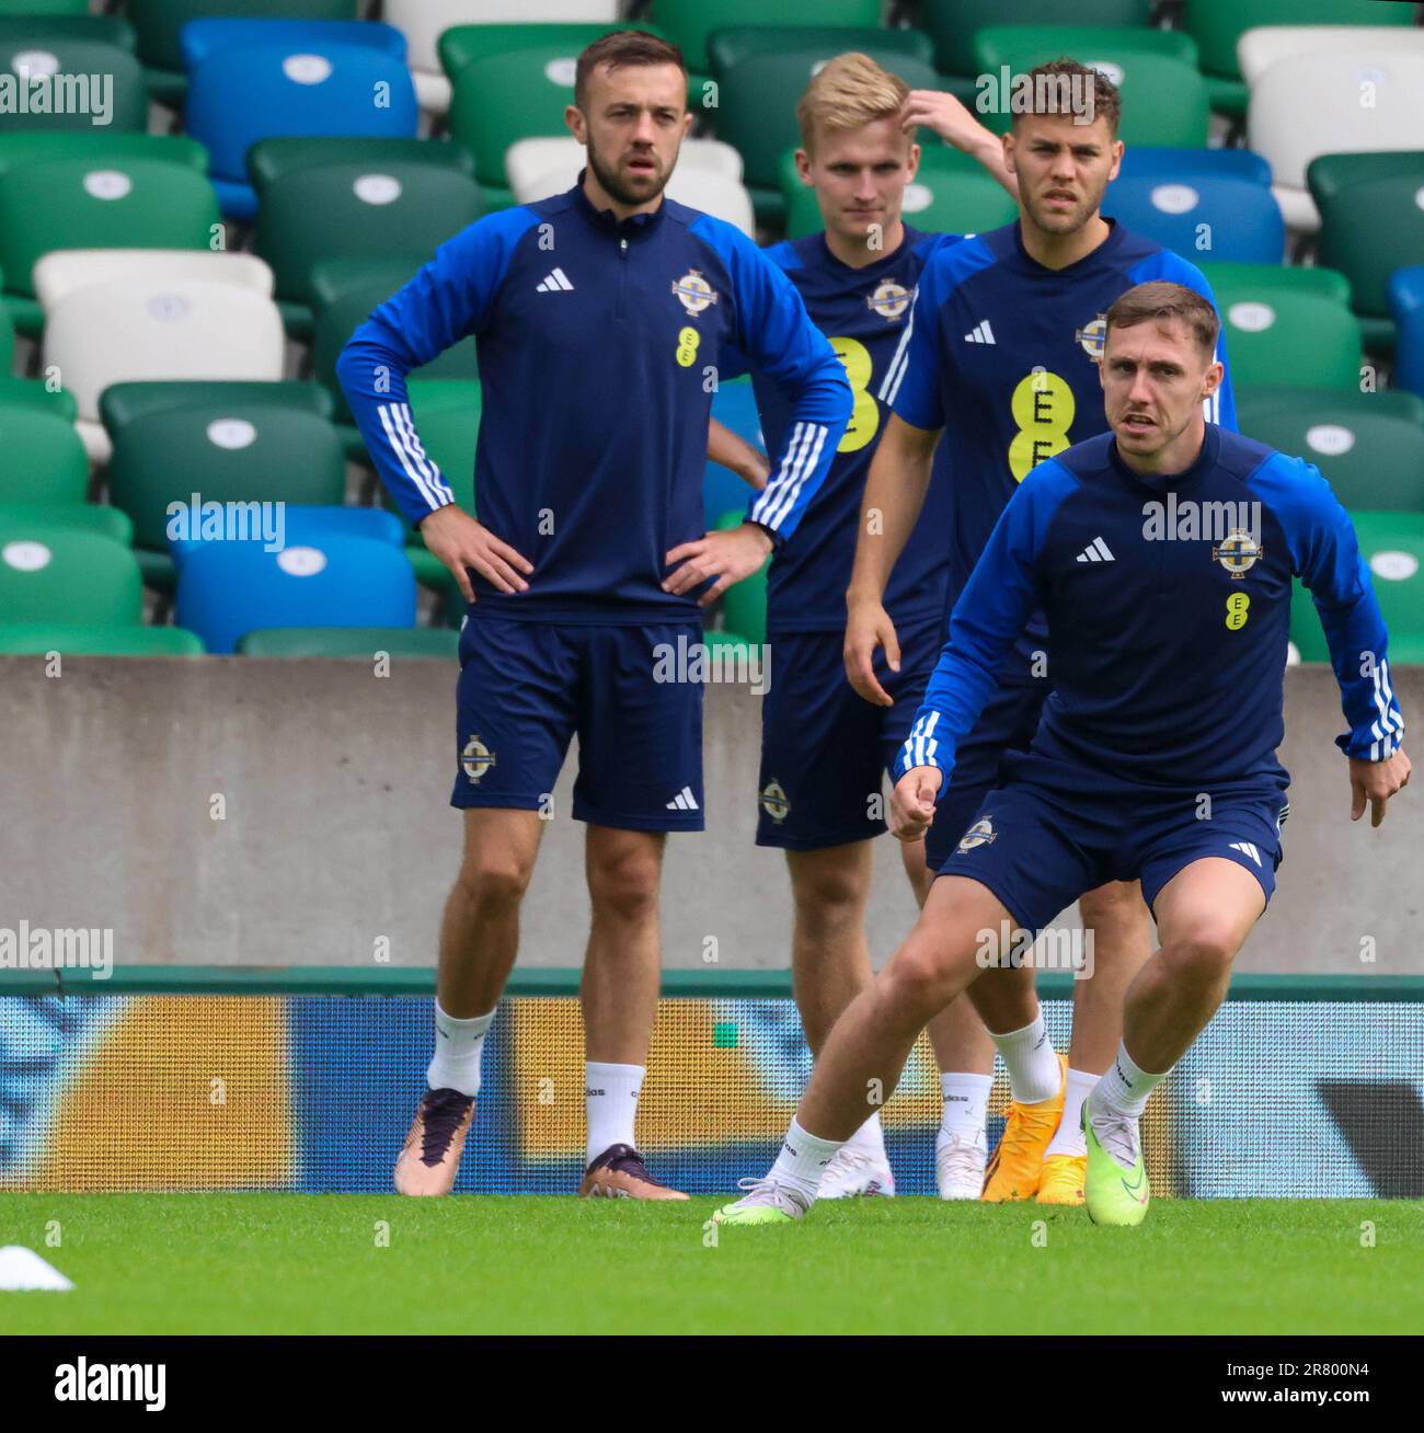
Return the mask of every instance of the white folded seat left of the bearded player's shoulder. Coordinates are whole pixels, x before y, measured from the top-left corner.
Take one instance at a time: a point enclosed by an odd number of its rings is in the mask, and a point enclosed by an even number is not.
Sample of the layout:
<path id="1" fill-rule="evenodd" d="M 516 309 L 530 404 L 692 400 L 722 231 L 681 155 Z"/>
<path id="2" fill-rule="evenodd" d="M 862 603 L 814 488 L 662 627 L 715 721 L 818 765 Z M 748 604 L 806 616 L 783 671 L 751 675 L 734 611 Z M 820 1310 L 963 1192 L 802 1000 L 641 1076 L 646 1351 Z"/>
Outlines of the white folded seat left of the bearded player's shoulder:
<path id="1" fill-rule="evenodd" d="M 44 311 L 44 364 L 79 404 L 96 463 L 110 453 L 99 397 L 113 383 L 282 377 L 282 315 L 265 294 L 195 278 L 86 284 Z"/>

